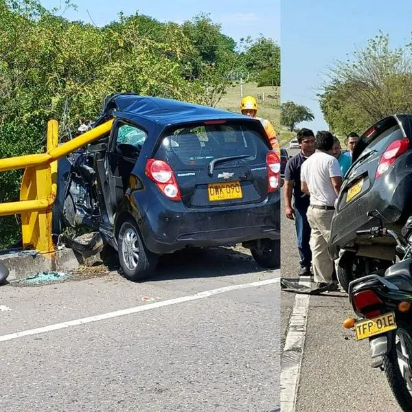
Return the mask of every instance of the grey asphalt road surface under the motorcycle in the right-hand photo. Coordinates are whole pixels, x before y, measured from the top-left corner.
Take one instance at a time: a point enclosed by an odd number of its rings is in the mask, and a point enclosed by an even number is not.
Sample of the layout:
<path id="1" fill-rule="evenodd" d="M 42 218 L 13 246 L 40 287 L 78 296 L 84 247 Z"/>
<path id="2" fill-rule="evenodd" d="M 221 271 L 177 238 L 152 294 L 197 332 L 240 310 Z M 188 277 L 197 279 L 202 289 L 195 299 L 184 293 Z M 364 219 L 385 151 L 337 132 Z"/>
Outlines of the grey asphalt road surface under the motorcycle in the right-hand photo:
<path id="1" fill-rule="evenodd" d="M 288 152 L 294 155 L 297 150 Z M 282 277 L 289 278 L 297 278 L 299 270 L 295 227 L 283 206 L 281 270 Z M 283 349 L 295 295 L 282 292 L 281 299 Z M 399 412 L 385 374 L 370 367 L 367 340 L 356 341 L 354 332 L 342 327 L 342 321 L 353 316 L 347 295 L 310 297 L 307 316 L 296 412 Z"/>

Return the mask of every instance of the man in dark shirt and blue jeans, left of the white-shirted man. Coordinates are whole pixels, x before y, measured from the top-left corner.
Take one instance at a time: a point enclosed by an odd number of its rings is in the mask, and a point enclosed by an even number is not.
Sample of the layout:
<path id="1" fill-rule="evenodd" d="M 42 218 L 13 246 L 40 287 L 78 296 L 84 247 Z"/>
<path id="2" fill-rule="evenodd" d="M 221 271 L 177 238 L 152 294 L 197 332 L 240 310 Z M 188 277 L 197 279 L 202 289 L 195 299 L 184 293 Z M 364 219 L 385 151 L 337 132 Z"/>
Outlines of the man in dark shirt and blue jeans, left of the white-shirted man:
<path id="1" fill-rule="evenodd" d="M 297 249 L 300 255 L 299 276 L 310 276 L 310 264 L 312 253 L 310 251 L 310 226 L 306 212 L 308 211 L 310 198 L 301 191 L 301 165 L 314 152 L 314 134 L 308 128 L 302 128 L 297 132 L 297 141 L 300 152 L 289 159 L 285 169 L 284 201 L 285 214 L 288 219 L 295 219 Z M 292 194 L 294 198 L 292 206 Z"/>

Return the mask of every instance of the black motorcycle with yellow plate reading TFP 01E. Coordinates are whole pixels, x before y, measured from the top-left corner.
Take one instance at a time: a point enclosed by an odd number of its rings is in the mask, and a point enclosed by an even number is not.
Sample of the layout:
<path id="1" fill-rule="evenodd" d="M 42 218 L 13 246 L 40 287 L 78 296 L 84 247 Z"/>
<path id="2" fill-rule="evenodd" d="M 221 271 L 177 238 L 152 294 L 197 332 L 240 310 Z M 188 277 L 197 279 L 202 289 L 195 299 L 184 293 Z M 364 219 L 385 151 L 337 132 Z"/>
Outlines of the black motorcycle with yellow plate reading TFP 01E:
<path id="1" fill-rule="evenodd" d="M 412 412 L 412 219 L 402 234 L 382 226 L 368 232 L 391 236 L 402 258 L 385 273 L 350 282 L 348 294 L 357 319 L 347 319 L 343 325 L 354 328 L 356 339 L 369 339 L 371 367 L 385 371 L 398 404 Z"/>

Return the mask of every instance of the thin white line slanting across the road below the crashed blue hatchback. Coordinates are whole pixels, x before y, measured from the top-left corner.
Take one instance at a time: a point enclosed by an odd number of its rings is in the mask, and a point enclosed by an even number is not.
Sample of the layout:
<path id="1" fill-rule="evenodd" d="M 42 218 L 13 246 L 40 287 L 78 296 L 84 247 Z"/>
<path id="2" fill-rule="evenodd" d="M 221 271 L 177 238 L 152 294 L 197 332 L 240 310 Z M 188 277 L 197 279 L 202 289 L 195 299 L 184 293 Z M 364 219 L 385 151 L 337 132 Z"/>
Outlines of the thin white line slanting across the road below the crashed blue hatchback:
<path id="1" fill-rule="evenodd" d="M 251 283 L 247 283 L 247 284 L 236 284 L 236 285 L 231 285 L 231 286 L 225 286 L 223 288 L 205 290 L 204 292 L 196 293 L 196 295 L 176 297 L 175 299 L 169 299 L 169 300 L 165 300 L 165 301 L 155 302 L 153 304 L 135 306 L 134 308 L 116 310 L 115 312 L 108 312 L 108 313 L 98 314 L 98 315 L 91 316 L 91 317 L 85 317 L 85 318 L 82 318 L 82 319 L 75 319 L 73 321 L 56 323 L 54 325 L 44 326 L 43 328 L 23 330 L 21 332 L 5 334 L 3 336 L 0 336 L 0 342 L 11 341 L 12 339 L 21 338 L 23 336 L 29 336 L 29 335 L 35 335 L 35 334 L 42 334 L 42 333 L 46 333 L 46 332 L 51 332 L 52 330 L 65 329 L 65 328 L 69 328 L 71 326 L 84 325 L 86 323 L 102 321 L 104 319 L 112 319 L 112 318 L 115 318 L 115 317 L 124 316 L 126 314 L 133 314 L 133 313 L 137 313 L 137 312 L 144 312 L 146 310 L 163 308 L 163 306 L 182 304 L 183 302 L 194 301 L 196 299 L 204 299 L 205 297 L 211 297 L 211 296 L 214 296 L 214 295 L 219 295 L 220 293 L 230 292 L 231 290 L 239 290 L 239 289 L 245 289 L 245 288 L 255 288 L 255 287 L 258 287 L 258 286 L 266 286 L 266 285 L 269 285 L 269 284 L 278 283 L 279 280 L 280 280 L 279 277 L 274 277 L 274 278 L 271 278 L 271 279 L 260 280 L 258 282 L 251 282 Z"/>

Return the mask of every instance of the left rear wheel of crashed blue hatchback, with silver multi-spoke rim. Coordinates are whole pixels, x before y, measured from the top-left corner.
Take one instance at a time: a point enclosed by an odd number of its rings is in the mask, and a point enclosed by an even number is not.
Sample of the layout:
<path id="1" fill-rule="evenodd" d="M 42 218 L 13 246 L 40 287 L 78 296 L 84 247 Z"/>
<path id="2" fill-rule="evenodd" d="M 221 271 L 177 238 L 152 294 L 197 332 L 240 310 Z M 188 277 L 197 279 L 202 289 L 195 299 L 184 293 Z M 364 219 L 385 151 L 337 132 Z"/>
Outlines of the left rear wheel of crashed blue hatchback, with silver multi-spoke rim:
<path id="1" fill-rule="evenodd" d="M 126 279 L 137 282 L 152 275 L 159 258 L 144 245 L 135 221 L 130 219 L 122 223 L 117 244 L 119 263 Z"/>

